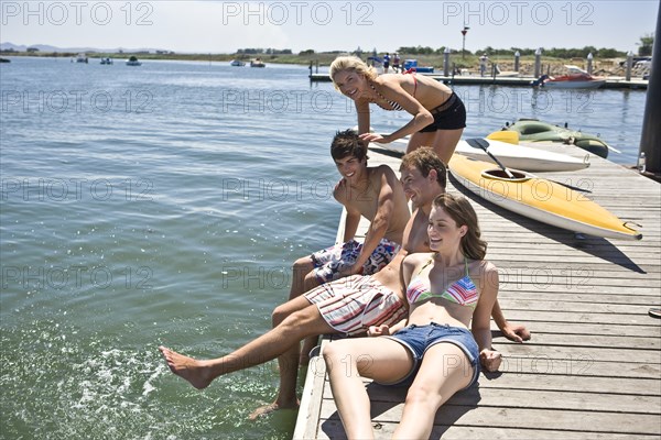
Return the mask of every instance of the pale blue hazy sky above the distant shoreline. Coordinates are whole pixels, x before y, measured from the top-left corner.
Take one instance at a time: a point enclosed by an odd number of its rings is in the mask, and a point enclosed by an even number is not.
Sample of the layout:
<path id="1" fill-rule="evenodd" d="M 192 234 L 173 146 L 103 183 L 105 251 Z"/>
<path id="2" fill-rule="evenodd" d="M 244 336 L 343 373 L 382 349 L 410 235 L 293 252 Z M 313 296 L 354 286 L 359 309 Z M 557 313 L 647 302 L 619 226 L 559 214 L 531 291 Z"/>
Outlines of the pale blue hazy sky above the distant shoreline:
<path id="1" fill-rule="evenodd" d="M 0 1 L 0 42 L 234 53 L 402 46 L 613 47 L 637 53 L 660 0 Z M 463 41 L 462 30 L 468 28 Z"/>

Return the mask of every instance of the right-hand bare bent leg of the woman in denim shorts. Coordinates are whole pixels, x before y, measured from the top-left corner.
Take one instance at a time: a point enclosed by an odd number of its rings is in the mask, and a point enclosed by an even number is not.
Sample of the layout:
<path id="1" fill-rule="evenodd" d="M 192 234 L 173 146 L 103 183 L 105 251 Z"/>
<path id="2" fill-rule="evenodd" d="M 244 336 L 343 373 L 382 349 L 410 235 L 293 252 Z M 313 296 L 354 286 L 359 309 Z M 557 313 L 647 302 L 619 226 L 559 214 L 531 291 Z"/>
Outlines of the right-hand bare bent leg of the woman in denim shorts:
<path id="1" fill-rule="evenodd" d="M 473 377 L 466 354 L 452 343 L 433 345 L 424 354 L 415 381 L 409 388 L 393 439 L 429 439 L 436 411 Z"/>

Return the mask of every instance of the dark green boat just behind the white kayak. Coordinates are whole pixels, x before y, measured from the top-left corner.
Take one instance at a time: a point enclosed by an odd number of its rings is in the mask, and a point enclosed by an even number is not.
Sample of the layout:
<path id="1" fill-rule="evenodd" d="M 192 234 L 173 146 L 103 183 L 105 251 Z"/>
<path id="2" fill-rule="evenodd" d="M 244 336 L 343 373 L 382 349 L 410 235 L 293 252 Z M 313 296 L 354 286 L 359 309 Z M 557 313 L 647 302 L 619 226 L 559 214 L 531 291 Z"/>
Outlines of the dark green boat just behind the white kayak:
<path id="1" fill-rule="evenodd" d="M 598 135 L 571 130 L 566 127 L 553 125 L 539 119 L 519 119 L 512 124 L 506 124 L 502 130 L 511 130 L 519 133 L 519 139 L 525 142 L 557 142 L 576 145 L 599 157 L 608 157 L 608 151 L 616 148 L 608 145 Z"/>

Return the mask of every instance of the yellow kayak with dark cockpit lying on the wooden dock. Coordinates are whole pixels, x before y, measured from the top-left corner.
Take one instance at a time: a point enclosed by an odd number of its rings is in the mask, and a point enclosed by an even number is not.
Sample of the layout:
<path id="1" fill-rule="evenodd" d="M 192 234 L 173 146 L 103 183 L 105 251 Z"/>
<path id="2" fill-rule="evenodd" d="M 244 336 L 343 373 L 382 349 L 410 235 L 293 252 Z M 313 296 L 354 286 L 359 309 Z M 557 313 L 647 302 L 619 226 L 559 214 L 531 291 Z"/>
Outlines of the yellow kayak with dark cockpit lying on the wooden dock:
<path id="1" fill-rule="evenodd" d="M 467 189 L 505 209 L 557 228 L 607 239 L 640 240 L 642 234 L 585 195 L 531 174 L 454 154 L 452 175 Z"/>

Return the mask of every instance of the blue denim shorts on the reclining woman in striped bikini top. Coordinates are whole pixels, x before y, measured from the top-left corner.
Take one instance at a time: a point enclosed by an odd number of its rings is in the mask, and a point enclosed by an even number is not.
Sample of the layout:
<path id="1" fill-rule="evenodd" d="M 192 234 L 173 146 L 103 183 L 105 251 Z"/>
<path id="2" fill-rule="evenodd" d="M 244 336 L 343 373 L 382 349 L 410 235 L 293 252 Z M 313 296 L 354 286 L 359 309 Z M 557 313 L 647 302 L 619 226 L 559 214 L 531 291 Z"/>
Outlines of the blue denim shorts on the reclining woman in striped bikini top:
<path id="1" fill-rule="evenodd" d="M 389 338 L 401 343 L 411 352 L 413 355 L 413 367 L 409 374 L 407 374 L 400 381 L 392 384 L 381 385 L 411 385 L 415 374 L 418 373 L 418 370 L 420 370 L 420 364 L 422 363 L 422 356 L 424 353 L 430 348 L 441 342 L 449 342 L 457 345 L 466 354 L 466 358 L 468 358 L 470 365 L 464 365 L 464 362 L 462 362 L 462 365 L 456 365 L 453 363 L 452 366 L 447 366 L 463 369 L 467 369 L 468 366 L 473 367 L 473 378 L 466 388 L 472 387 L 477 382 L 477 377 L 479 376 L 479 349 L 477 346 L 477 342 L 475 342 L 475 338 L 473 338 L 473 333 L 468 329 L 431 322 L 427 326 L 411 324 L 398 331 L 397 333 L 384 338 Z M 442 372 L 442 370 L 440 370 L 440 372 Z"/>

